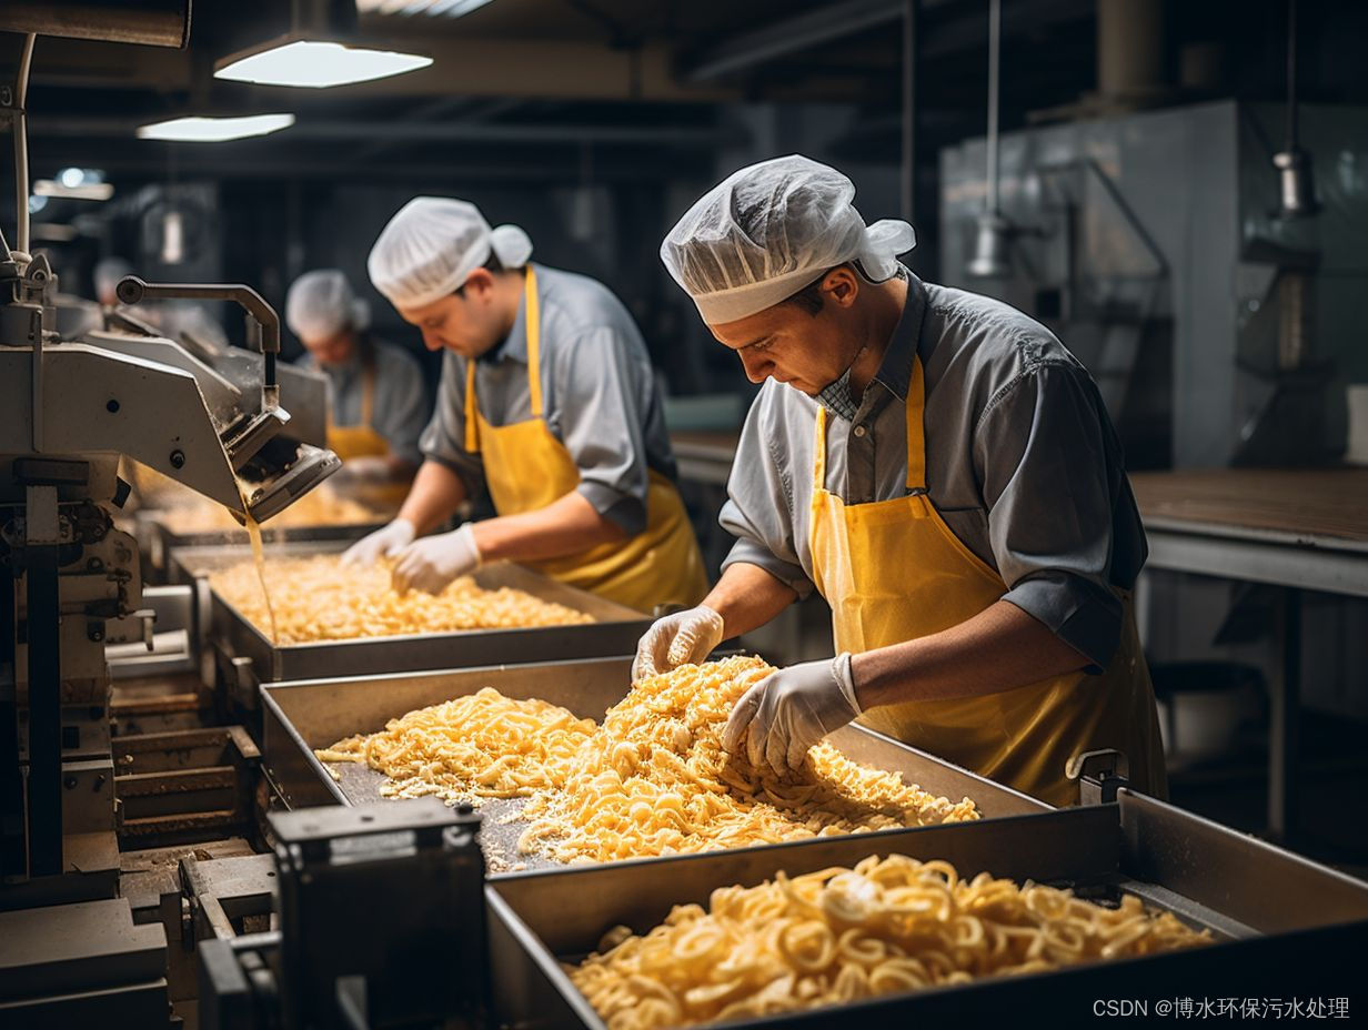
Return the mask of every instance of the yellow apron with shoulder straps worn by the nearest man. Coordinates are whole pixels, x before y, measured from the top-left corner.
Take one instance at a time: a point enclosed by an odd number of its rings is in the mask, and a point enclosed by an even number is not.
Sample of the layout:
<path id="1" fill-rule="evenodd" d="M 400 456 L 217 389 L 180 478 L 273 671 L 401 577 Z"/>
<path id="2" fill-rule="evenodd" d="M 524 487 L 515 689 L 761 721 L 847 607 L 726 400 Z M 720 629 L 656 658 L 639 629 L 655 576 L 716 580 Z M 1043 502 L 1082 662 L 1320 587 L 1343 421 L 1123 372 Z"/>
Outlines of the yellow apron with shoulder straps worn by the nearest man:
<path id="1" fill-rule="evenodd" d="M 845 505 L 826 491 L 826 410 L 817 413 L 810 543 L 837 652 L 949 629 L 1007 592 L 926 494 L 923 409 L 925 379 L 915 360 L 907 393 L 911 492 L 866 505 Z M 1070 758 L 1116 748 L 1130 759 L 1130 782 L 1166 797 L 1155 692 L 1130 599 L 1122 600 L 1120 644 L 1100 676 L 1074 672 L 981 698 L 904 702 L 867 711 L 860 722 L 1055 806 L 1078 800 L 1077 784 L 1064 776 Z"/>

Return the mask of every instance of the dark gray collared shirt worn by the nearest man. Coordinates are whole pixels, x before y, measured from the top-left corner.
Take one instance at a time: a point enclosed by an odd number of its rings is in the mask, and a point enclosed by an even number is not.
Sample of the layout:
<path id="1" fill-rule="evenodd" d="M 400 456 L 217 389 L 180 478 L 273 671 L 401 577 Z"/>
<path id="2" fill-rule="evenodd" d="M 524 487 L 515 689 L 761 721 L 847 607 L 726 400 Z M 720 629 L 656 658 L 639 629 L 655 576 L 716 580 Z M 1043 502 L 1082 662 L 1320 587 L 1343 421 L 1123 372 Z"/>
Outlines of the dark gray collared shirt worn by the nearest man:
<path id="1" fill-rule="evenodd" d="M 912 354 L 926 383 L 928 491 L 953 533 L 997 570 L 1010 600 L 1082 652 L 1111 661 L 1145 533 L 1120 442 L 1092 378 L 1044 326 L 978 294 L 911 276 L 882 367 L 859 404 L 845 379 L 819 399 L 767 380 L 751 406 L 721 524 L 724 568 L 758 565 L 800 595 L 814 420 L 828 409 L 826 490 L 845 503 L 906 494 Z M 915 561 L 915 555 L 886 555 Z"/>

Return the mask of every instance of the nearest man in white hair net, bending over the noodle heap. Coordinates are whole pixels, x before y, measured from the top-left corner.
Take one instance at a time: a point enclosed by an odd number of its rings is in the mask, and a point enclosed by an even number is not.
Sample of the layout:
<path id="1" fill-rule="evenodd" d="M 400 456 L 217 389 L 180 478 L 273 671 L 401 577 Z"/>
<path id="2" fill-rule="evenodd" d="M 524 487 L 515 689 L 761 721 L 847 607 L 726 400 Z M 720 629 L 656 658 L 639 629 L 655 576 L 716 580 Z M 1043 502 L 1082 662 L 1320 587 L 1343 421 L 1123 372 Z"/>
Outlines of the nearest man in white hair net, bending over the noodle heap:
<path id="1" fill-rule="evenodd" d="M 806 157 L 743 168 L 661 256 L 763 383 L 703 605 L 657 621 L 640 678 L 702 661 L 815 587 L 836 658 L 744 694 L 724 747 L 802 765 L 859 719 L 1052 804 L 1066 763 L 1126 754 L 1164 796 L 1153 689 L 1130 610 L 1145 536 L 1097 387 L 1044 326 L 919 280 L 912 227 L 866 226 L 848 178 Z"/>

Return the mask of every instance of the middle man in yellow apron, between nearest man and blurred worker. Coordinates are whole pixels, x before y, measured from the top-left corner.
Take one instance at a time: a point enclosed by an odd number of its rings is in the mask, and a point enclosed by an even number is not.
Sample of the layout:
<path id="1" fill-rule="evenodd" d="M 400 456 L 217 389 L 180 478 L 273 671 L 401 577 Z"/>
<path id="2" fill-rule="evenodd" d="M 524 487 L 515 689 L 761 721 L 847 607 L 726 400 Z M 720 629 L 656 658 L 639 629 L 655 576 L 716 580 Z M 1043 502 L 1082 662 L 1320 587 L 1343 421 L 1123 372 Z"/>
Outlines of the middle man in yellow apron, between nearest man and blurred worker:
<path id="1" fill-rule="evenodd" d="M 531 256 L 461 200 L 417 197 L 384 227 L 371 280 L 445 364 L 398 518 L 345 558 L 394 557 L 401 591 L 510 559 L 643 611 L 695 605 L 707 583 L 642 335 L 607 287 Z M 486 491 L 495 518 L 416 539 Z"/>

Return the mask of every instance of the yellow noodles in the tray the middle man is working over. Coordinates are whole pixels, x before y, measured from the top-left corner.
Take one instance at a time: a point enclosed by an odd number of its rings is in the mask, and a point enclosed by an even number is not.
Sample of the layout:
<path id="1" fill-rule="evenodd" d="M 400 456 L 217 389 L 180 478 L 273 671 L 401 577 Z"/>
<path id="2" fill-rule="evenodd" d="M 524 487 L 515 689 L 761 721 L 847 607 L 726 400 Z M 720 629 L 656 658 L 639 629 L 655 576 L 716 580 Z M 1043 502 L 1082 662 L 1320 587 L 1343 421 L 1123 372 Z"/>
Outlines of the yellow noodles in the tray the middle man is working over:
<path id="1" fill-rule="evenodd" d="M 442 633 L 457 629 L 514 629 L 592 622 L 565 605 L 534 598 L 520 590 L 484 590 L 469 576 L 438 595 L 390 588 L 383 564 L 342 569 L 337 555 L 271 558 L 265 585 L 271 591 L 279 644 L 313 640 L 354 640 L 398 633 Z M 252 562 L 209 575 L 209 584 L 245 618 L 267 624 L 261 584 Z"/>

